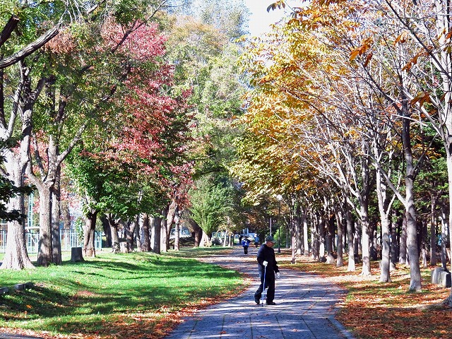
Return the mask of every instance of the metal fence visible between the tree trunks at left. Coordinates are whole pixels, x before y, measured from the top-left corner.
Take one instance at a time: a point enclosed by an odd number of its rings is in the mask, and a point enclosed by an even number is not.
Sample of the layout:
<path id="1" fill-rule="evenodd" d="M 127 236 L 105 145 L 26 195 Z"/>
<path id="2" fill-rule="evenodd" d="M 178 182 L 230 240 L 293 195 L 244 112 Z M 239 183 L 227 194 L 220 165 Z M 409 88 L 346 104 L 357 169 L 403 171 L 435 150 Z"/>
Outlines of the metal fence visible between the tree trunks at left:
<path id="1" fill-rule="evenodd" d="M 71 251 L 72 247 L 82 247 L 83 240 L 79 239 L 76 230 L 59 230 L 59 239 L 61 242 L 61 251 Z M 6 230 L 0 230 L 0 253 L 6 250 Z M 39 230 L 26 230 L 25 243 L 27 244 L 28 253 L 37 253 L 37 242 L 40 239 Z M 94 237 L 95 249 L 102 249 L 102 232 L 95 232 Z"/>

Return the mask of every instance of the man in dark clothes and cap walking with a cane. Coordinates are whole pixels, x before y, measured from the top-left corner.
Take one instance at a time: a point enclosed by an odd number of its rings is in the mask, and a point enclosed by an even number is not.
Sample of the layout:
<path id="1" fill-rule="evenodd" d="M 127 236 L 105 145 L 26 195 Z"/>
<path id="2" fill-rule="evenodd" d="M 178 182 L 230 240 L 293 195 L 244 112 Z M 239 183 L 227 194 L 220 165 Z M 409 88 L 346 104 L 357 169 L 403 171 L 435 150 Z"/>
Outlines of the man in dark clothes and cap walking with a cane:
<path id="1" fill-rule="evenodd" d="M 254 293 L 254 301 L 261 304 L 262 292 L 268 287 L 266 304 L 275 305 L 275 273 L 280 278 L 280 270 L 275 258 L 275 239 L 271 235 L 266 237 L 266 242 L 262 244 L 257 252 L 257 262 L 259 275 L 261 277 L 261 285 Z"/>

